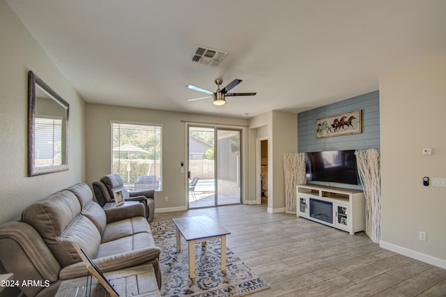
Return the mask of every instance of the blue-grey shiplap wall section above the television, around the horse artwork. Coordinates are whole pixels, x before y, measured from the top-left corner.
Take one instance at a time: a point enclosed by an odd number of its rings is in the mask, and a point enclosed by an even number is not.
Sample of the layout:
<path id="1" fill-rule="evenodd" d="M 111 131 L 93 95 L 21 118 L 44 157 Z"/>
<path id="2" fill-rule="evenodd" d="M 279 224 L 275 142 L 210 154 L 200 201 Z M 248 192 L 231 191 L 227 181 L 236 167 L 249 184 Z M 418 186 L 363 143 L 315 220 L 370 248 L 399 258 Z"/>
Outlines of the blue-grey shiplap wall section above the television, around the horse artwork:
<path id="1" fill-rule="evenodd" d="M 362 110 L 362 133 L 316 138 L 316 120 L 353 110 Z M 298 152 L 335 151 L 380 147 L 379 91 L 300 112 L 298 114 Z"/>

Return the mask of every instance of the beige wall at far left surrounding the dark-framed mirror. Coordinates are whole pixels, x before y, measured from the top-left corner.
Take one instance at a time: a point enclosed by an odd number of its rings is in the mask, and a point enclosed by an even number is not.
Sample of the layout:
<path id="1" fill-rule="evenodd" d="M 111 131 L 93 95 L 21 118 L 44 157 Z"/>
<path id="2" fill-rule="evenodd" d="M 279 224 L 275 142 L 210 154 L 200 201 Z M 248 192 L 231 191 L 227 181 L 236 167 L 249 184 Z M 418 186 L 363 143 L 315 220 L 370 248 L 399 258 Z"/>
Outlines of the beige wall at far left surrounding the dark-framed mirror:
<path id="1" fill-rule="evenodd" d="M 5 1 L 0 1 L 0 224 L 31 202 L 84 180 L 84 100 Z M 70 170 L 27 177 L 28 71 L 70 104 Z"/>

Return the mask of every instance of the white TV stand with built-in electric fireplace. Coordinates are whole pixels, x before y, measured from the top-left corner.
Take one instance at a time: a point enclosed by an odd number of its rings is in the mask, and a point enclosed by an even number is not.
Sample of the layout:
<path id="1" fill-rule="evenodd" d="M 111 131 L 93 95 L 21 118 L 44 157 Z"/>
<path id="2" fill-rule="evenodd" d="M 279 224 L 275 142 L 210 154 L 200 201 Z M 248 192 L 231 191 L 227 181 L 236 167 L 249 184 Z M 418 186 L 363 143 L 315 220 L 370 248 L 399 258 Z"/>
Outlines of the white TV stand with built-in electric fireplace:
<path id="1" fill-rule="evenodd" d="M 365 229 L 364 192 L 322 185 L 298 185 L 296 193 L 298 217 L 326 224 L 352 235 Z"/>

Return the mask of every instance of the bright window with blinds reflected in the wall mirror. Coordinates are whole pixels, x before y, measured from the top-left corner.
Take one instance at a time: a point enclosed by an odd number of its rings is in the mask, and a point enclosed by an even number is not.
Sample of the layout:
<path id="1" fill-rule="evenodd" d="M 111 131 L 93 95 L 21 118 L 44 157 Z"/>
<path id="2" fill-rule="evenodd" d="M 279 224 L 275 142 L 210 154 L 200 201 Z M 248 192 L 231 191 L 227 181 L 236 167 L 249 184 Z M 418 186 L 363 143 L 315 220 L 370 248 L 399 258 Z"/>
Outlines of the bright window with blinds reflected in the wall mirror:
<path id="1" fill-rule="evenodd" d="M 36 167 L 62 164 L 62 120 L 35 119 L 34 160 Z"/>

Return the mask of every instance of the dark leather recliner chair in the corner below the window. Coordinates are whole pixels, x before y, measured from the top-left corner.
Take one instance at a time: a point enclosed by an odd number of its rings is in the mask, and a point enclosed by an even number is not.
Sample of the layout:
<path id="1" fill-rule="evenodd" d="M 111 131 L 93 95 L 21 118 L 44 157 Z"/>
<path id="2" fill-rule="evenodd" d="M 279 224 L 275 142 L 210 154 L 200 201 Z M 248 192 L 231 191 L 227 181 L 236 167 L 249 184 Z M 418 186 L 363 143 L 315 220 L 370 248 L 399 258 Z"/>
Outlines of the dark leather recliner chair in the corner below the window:
<path id="1" fill-rule="evenodd" d="M 119 174 L 107 174 L 102 176 L 100 181 L 93 182 L 93 192 L 98 204 L 102 207 L 108 202 L 114 202 L 113 193 L 115 190 L 122 190 L 125 201 L 139 201 L 146 205 L 146 217 L 148 222 L 153 220 L 155 213 L 155 191 L 140 190 L 129 192 L 123 184 L 123 179 Z"/>

